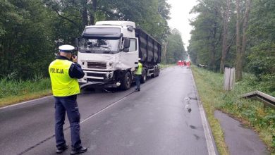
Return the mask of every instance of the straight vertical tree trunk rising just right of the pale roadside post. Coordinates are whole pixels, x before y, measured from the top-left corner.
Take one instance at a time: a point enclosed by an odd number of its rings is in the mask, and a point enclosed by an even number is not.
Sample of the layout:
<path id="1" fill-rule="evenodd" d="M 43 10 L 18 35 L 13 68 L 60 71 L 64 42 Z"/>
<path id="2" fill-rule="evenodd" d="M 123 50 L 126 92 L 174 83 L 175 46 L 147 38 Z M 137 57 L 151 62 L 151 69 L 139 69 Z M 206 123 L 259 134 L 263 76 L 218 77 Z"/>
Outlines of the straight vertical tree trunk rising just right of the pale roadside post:
<path id="1" fill-rule="evenodd" d="M 241 49 L 240 49 L 240 0 L 236 0 L 236 11 L 237 11 L 237 19 L 236 19 L 236 80 L 241 79 L 242 74 L 242 59 L 241 59 Z"/>

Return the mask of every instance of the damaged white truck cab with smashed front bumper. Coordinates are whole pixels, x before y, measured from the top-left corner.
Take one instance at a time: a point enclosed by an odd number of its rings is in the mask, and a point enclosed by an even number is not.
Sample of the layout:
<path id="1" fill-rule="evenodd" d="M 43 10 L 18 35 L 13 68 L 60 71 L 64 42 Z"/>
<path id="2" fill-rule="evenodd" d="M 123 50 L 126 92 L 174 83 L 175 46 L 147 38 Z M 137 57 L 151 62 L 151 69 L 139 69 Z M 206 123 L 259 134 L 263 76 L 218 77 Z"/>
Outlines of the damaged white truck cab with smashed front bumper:
<path id="1" fill-rule="evenodd" d="M 81 87 L 130 88 L 138 58 L 142 58 L 135 28 L 130 21 L 100 21 L 85 27 L 77 43 L 78 63 L 85 73 L 78 80 Z M 147 77 L 146 65 L 145 72 Z"/>

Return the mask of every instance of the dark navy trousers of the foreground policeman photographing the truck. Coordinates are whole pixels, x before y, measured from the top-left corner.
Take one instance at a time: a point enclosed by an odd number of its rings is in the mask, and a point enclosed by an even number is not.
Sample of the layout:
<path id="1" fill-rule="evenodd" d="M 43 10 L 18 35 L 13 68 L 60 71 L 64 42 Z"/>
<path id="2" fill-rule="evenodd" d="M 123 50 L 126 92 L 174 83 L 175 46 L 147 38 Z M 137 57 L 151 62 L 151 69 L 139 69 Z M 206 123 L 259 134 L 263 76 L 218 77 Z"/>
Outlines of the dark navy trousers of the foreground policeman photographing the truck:
<path id="1" fill-rule="evenodd" d="M 71 126 L 71 142 L 72 147 L 78 149 L 81 147 L 80 140 L 80 113 L 78 111 L 78 103 L 76 102 L 77 95 L 69 97 L 54 97 L 55 98 L 55 132 L 56 132 L 56 147 L 63 147 L 66 144 L 63 134 L 63 124 L 66 116 Z"/>

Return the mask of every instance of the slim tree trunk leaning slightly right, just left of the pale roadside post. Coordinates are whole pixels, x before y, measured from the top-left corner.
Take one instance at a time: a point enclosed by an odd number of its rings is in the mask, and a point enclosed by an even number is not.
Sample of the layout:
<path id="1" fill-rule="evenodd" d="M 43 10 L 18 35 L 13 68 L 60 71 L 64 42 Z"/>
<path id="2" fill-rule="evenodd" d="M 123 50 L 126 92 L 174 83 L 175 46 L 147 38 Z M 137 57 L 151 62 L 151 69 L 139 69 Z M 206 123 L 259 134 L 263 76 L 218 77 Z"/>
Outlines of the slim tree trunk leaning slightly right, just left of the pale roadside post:
<path id="1" fill-rule="evenodd" d="M 226 61 L 226 49 L 228 48 L 228 16 L 230 0 L 226 1 L 226 12 L 224 13 L 224 32 L 223 32 L 223 49 L 221 53 L 220 72 L 224 73 L 224 63 Z"/>

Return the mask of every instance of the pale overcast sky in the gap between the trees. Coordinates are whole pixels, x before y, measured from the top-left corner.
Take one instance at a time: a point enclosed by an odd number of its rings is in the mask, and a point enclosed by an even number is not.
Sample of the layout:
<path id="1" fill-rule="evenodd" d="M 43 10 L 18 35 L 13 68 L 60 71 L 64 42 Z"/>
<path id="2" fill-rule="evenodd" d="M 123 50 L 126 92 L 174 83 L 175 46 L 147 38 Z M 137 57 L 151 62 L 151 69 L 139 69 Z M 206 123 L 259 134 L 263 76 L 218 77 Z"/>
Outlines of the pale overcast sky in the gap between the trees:
<path id="1" fill-rule="evenodd" d="M 181 32 L 181 37 L 187 50 L 188 40 L 191 37 L 190 31 L 192 30 L 192 26 L 189 25 L 189 19 L 195 17 L 195 15 L 190 15 L 189 12 L 197 2 L 196 0 L 167 0 L 167 2 L 171 4 L 169 26 Z"/>

